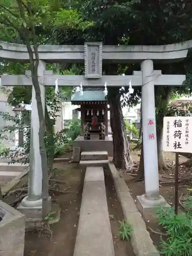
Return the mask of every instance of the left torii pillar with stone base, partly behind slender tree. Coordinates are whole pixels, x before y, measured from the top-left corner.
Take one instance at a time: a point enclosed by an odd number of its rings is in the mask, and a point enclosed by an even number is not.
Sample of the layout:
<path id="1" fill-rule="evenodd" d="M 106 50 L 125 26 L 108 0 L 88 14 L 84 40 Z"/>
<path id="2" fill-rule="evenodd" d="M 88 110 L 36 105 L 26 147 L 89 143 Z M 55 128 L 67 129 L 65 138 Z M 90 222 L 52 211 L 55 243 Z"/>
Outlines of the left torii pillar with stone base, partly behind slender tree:
<path id="1" fill-rule="evenodd" d="M 46 62 L 39 60 L 38 77 L 42 108 L 45 115 L 45 86 L 44 72 Z M 41 218 L 42 214 L 42 167 L 39 150 L 39 118 L 37 101 L 34 86 L 32 87 L 32 107 L 31 107 L 31 144 L 30 144 L 30 164 L 29 164 L 29 184 L 28 196 L 19 204 L 17 209 L 25 214 L 26 218 Z M 49 197 L 49 196 L 48 196 Z M 51 197 L 49 197 L 49 210 L 51 210 Z"/>

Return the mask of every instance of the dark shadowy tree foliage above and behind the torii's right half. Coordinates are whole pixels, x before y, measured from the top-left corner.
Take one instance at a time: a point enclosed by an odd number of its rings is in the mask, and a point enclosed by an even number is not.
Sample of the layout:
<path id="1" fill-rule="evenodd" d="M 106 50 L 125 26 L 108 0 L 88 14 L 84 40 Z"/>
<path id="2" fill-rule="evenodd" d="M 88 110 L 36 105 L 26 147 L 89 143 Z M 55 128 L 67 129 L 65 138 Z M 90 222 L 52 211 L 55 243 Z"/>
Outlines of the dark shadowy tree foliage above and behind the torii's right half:
<path id="1" fill-rule="evenodd" d="M 62 6 L 66 4 L 63 3 Z M 58 30 L 58 44 L 83 45 L 84 41 L 102 41 L 103 45 L 165 45 L 192 38 L 190 2 L 176 1 L 96 1 L 70 0 L 68 6 L 87 20 L 94 20 L 94 25 L 84 31 Z M 111 18 L 113 17 L 113 18 Z M 155 70 L 162 70 L 162 74 L 186 74 L 185 86 L 174 87 L 174 93 L 191 93 L 191 54 L 179 63 L 154 63 Z M 103 63 L 103 73 L 109 75 L 132 75 L 133 70 L 140 70 L 140 63 L 115 65 Z M 129 81 L 127 81 L 128 83 Z M 157 87 L 156 87 L 157 88 Z M 166 87 L 158 87 L 164 88 Z M 134 88 L 131 98 L 124 104 L 136 104 L 141 96 L 141 88 Z M 189 89 L 189 90 L 188 90 Z M 113 91 L 111 93 L 111 91 Z M 117 98 L 117 88 L 109 89 L 109 96 Z M 159 92 L 157 95 L 161 95 Z"/>

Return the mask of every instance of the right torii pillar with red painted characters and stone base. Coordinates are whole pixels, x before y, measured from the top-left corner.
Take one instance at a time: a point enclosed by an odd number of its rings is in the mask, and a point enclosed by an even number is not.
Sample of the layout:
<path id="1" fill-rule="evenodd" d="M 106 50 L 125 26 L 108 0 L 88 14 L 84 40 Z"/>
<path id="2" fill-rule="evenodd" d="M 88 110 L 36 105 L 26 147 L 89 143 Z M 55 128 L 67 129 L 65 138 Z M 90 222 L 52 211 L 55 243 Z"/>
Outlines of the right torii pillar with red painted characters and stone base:
<path id="1" fill-rule="evenodd" d="M 142 129 L 143 129 L 143 157 L 145 194 L 137 196 L 137 206 L 144 217 L 153 214 L 157 206 L 169 206 L 165 199 L 159 195 L 159 172 L 157 155 L 157 136 L 155 118 L 155 77 L 153 60 L 141 62 L 142 72 Z M 156 73 L 156 74 L 155 74 Z M 161 73 L 161 72 L 160 72 Z M 161 74 L 159 75 L 161 76 Z M 165 76 L 165 79 L 168 79 Z M 166 83 L 166 80 L 165 80 Z M 168 83 L 168 82 L 167 82 Z"/>

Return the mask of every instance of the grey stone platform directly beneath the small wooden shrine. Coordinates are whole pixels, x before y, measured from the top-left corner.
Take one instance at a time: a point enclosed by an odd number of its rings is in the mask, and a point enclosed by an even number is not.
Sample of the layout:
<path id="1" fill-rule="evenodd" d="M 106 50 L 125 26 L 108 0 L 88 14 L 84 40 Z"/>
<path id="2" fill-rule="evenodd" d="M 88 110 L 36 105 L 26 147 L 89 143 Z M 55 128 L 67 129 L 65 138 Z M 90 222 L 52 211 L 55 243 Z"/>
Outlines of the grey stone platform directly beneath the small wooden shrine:
<path id="1" fill-rule="evenodd" d="M 82 151 L 106 151 L 109 157 L 113 157 L 113 138 L 105 136 L 105 140 L 99 140 L 98 136 L 91 135 L 90 140 L 84 140 L 83 136 L 77 137 L 73 141 L 74 147 L 80 147 Z"/>

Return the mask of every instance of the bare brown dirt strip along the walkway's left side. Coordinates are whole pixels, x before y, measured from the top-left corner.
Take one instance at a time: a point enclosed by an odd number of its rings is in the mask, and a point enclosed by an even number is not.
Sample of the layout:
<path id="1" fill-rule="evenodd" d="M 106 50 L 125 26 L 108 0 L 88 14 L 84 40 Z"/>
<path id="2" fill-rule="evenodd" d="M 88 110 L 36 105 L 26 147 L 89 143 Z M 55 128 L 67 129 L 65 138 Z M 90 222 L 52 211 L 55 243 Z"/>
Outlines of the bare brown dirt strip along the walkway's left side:
<path id="1" fill-rule="evenodd" d="M 50 193 L 52 201 L 61 208 L 60 221 L 51 225 L 51 241 L 44 234 L 39 238 L 37 233 L 27 232 L 24 256 L 73 255 L 85 172 L 79 164 L 59 162 L 54 167 L 57 168 L 54 179 L 65 181 L 70 187 L 66 194 Z M 58 189 L 63 190 L 67 185 L 59 184 Z"/>

